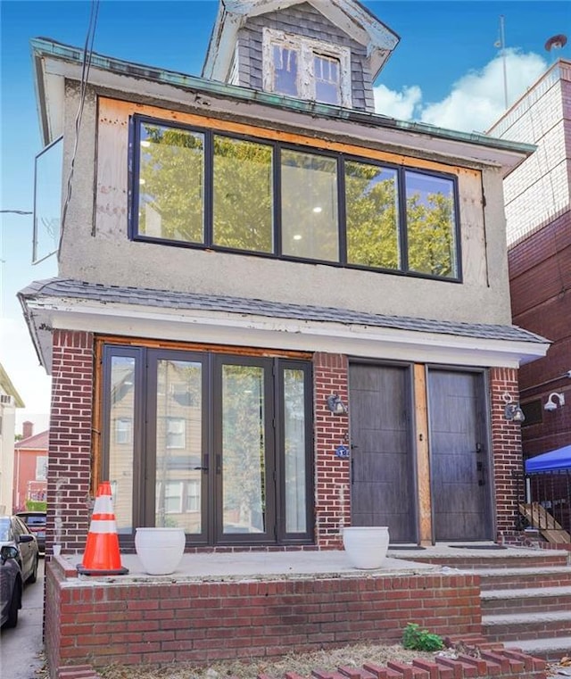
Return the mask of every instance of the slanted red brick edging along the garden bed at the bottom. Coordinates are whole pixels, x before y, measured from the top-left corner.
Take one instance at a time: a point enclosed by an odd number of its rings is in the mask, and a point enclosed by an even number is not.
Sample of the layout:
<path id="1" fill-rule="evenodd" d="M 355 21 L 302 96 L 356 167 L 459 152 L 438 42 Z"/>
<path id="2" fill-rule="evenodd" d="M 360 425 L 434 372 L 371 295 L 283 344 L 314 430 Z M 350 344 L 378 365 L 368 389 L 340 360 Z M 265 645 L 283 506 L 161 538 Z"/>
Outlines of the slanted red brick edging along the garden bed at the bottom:
<path id="1" fill-rule="evenodd" d="M 336 671 L 313 669 L 310 678 L 285 672 L 284 679 L 545 679 L 547 663 L 519 649 L 505 649 L 501 643 L 485 642 L 483 637 L 445 640 L 456 658 L 434 656 L 434 661 L 418 658 L 412 663 L 389 661 L 380 667 L 364 662 L 358 667 L 337 667 Z M 57 679 L 102 679 L 88 665 L 59 667 Z M 228 676 L 227 679 L 237 679 Z M 258 675 L 257 679 L 274 679 Z"/>

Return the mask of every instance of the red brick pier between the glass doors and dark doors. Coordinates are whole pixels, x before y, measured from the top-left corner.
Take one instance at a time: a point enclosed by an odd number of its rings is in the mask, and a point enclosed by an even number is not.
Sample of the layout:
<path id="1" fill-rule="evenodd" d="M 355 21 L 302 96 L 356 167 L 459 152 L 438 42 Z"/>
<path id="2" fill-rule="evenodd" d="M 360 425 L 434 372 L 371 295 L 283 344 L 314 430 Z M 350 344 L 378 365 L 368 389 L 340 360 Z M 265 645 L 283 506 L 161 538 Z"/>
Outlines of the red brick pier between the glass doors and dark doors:
<path id="1" fill-rule="evenodd" d="M 316 353 L 313 358 L 315 413 L 316 542 L 321 549 L 341 547 L 341 527 L 351 524 L 350 460 L 335 456 L 339 445 L 349 445 L 349 416 L 327 409 L 327 396 L 338 393 L 348 402 L 346 356 Z"/>

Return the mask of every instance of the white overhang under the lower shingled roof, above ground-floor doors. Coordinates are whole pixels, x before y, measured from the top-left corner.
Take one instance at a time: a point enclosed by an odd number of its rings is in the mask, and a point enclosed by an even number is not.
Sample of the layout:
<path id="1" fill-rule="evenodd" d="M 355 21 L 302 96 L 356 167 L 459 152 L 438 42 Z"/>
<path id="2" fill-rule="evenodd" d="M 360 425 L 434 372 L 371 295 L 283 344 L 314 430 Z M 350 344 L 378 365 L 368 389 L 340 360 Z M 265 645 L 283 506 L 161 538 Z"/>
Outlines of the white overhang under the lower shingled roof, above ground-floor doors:
<path id="1" fill-rule="evenodd" d="M 545 356 L 550 345 L 540 337 L 507 340 L 447 335 L 284 315 L 272 318 L 240 309 L 209 311 L 49 295 L 20 296 L 39 359 L 50 374 L 55 329 L 482 368 L 518 368 Z"/>

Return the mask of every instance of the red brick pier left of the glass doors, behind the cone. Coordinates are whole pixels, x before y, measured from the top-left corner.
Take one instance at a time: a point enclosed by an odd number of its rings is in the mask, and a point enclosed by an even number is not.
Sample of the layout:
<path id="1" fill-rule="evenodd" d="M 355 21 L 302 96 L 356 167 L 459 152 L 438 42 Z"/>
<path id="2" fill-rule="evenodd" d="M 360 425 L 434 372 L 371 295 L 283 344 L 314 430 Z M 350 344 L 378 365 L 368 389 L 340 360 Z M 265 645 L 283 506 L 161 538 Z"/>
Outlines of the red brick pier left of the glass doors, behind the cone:
<path id="1" fill-rule="evenodd" d="M 93 336 L 54 330 L 46 545 L 83 551 L 89 530 Z"/>

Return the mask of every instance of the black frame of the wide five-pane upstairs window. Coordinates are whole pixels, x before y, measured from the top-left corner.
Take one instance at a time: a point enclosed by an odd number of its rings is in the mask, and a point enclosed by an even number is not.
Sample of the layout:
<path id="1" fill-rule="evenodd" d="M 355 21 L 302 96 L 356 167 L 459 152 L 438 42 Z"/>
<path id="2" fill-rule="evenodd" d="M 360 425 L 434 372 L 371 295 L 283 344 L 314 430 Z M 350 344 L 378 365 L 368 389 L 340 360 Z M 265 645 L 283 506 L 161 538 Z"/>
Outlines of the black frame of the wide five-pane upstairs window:
<path id="1" fill-rule="evenodd" d="M 203 243 L 194 243 L 156 236 L 145 236 L 138 232 L 138 202 L 139 202 L 139 170 L 140 170 L 140 129 L 144 124 L 156 125 L 166 128 L 185 129 L 189 132 L 202 134 L 204 138 L 204 196 L 203 196 Z M 213 240 L 213 160 L 214 160 L 214 136 L 228 137 L 237 140 L 252 142 L 254 144 L 269 145 L 272 147 L 272 215 L 273 215 L 273 252 L 264 253 L 246 249 L 238 249 L 215 244 Z M 389 161 L 380 161 L 367 156 L 354 153 L 331 152 L 310 145 L 295 145 L 266 137 L 255 137 L 247 134 L 228 132 L 222 128 L 206 128 L 200 125 L 173 122 L 147 115 L 134 114 L 129 119 L 129 153 L 128 153 L 128 238 L 136 242 L 170 245 L 171 247 L 183 247 L 198 250 L 213 250 L 221 253 L 236 253 L 248 256 L 277 259 L 283 261 L 296 261 L 310 264 L 325 264 L 327 266 L 343 269 L 360 269 L 375 271 L 377 273 L 391 274 L 394 276 L 406 276 L 426 278 L 447 283 L 462 283 L 462 256 L 461 256 L 461 226 L 459 211 L 459 183 L 458 177 L 452 172 L 427 170 L 414 165 L 403 165 Z M 291 150 L 298 153 L 310 153 L 327 158 L 336 162 L 337 172 L 337 236 L 339 246 L 338 261 L 310 259 L 307 257 L 295 257 L 285 255 L 282 247 L 282 182 L 281 182 L 281 151 Z M 376 165 L 379 168 L 394 170 L 397 174 L 398 183 L 398 237 L 401 246 L 401 266 L 399 269 L 383 269 L 354 264 L 347 261 L 347 224 L 346 224 L 346 201 L 345 201 L 345 168 L 346 161 L 361 162 L 367 165 Z M 456 276 L 437 276 L 411 270 L 409 267 L 408 236 L 407 236 L 407 203 L 406 203 L 406 173 L 407 171 L 426 177 L 442 178 L 451 182 L 453 194 L 453 236 Z"/>

